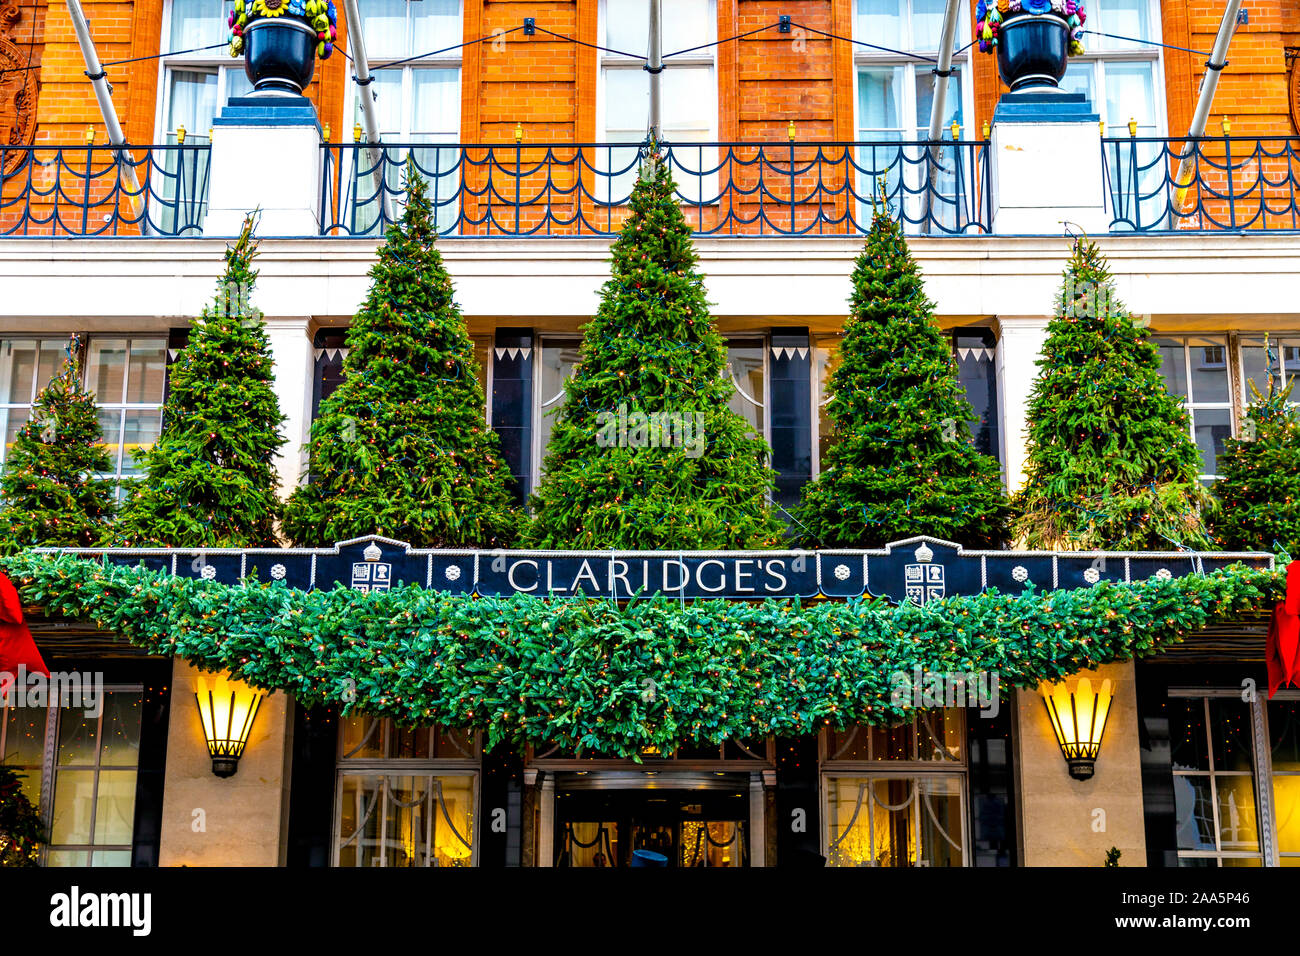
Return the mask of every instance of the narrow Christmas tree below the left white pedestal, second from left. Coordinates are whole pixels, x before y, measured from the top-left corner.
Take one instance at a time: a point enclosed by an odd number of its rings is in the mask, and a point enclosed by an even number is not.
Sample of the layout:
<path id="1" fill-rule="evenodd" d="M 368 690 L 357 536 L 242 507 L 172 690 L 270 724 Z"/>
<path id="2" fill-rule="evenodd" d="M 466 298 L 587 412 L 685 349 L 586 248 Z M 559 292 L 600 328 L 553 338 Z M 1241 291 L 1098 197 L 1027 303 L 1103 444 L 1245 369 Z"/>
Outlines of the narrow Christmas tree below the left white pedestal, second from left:
<path id="1" fill-rule="evenodd" d="M 274 545 L 276 453 L 285 444 L 261 312 L 254 220 L 226 248 L 213 302 L 190 324 L 168 377 L 162 432 L 140 458 L 144 479 L 122 509 L 124 545 Z"/>

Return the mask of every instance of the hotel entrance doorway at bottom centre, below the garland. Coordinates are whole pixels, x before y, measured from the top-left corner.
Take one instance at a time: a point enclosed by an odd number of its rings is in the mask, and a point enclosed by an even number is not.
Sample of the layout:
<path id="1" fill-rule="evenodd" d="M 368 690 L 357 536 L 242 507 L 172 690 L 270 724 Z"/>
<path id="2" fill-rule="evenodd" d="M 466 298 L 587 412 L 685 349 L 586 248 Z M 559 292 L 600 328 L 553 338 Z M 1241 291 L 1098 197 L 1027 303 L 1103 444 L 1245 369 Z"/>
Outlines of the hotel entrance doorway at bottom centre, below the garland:
<path id="1" fill-rule="evenodd" d="M 554 866 L 751 866 L 750 775 L 555 775 Z"/>

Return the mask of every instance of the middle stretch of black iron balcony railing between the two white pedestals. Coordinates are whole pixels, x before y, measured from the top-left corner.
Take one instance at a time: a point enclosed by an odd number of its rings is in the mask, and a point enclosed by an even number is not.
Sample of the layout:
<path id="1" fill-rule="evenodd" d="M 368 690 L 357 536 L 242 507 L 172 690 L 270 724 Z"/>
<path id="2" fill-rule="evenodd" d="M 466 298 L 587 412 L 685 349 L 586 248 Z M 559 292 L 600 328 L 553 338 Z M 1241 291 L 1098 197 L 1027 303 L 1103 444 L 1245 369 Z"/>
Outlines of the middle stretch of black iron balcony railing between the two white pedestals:
<path id="1" fill-rule="evenodd" d="M 407 163 L 446 235 L 611 235 L 641 168 L 633 143 L 325 144 L 322 232 L 377 235 L 400 215 Z M 989 230 L 987 142 L 672 143 L 697 235 L 857 235 L 883 198 L 910 233 Z"/>

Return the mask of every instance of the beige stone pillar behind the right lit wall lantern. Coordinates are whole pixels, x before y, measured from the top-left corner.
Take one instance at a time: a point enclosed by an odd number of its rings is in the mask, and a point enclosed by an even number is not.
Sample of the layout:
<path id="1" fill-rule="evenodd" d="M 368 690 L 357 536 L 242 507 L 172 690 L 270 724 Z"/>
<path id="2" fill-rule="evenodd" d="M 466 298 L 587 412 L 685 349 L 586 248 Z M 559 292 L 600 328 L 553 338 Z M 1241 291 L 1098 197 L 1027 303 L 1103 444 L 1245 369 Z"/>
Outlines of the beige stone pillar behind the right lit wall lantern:
<path id="1" fill-rule="evenodd" d="M 1138 695 L 1134 665 L 1106 665 L 1069 678 L 1110 679 L 1114 701 L 1101 737 L 1096 773 L 1070 777 L 1037 691 L 1017 700 L 1023 866 L 1101 866 L 1118 847 L 1121 866 L 1147 865 L 1141 803 L 1141 753 L 1138 741 Z"/>

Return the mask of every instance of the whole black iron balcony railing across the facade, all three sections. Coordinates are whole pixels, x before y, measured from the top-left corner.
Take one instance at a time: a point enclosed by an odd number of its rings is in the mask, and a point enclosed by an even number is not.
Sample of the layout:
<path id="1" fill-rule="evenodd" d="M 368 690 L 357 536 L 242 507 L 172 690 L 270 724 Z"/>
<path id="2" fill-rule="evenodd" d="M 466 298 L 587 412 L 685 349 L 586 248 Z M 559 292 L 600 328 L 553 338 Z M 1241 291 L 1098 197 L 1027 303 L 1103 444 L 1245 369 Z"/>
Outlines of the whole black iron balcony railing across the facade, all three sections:
<path id="1" fill-rule="evenodd" d="M 608 237 L 634 144 L 325 143 L 320 234 L 378 237 L 407 164 L 458 238 Z M 1300 137 L 1101 139 L 1113 234 L 1300 230 Z M 993 232 L 987 140 L 666 144 L 697 237 L 857 237 L 884 200 L 913 235 Z M 200 237 L 211 146 L 0 147 L 0 237 Z"/>

